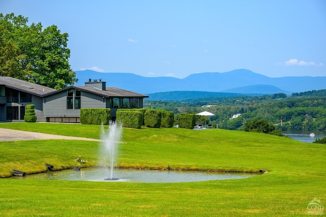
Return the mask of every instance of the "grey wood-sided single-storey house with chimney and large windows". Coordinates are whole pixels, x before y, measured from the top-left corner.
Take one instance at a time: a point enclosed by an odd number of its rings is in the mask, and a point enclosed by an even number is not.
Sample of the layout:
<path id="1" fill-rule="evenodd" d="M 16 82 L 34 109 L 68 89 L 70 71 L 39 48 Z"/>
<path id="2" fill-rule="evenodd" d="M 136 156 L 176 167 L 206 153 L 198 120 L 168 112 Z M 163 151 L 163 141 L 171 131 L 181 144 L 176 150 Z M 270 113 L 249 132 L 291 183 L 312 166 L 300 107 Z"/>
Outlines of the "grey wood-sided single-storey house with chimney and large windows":
<path id="1" fill-rule="evenodd" d="M 101 79 L 61 90 L 0 76 L 0 121 L 23 121 L 25 106 L 35 105 L 37 122 L 79 123 L 80 108 L 142 108 L 147 95 L 106 87 Z"/>

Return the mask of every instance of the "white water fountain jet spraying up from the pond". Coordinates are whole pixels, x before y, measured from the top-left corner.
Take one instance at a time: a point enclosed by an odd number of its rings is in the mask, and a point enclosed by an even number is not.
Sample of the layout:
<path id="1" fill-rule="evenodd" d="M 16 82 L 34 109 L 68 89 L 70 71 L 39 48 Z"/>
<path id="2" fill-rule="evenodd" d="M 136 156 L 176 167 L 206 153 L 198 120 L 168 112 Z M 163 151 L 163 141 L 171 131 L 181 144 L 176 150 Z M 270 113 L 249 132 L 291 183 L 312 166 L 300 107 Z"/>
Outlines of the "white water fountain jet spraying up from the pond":
<path id="1" fill-rule="evenodd" d="M 118 144 L 121 139 L 122 125 L 110 121 L 108 130 L 104 129 L 103 124 L 101 125 L 101 146 L 99 149 L 99 156 L 104 162 L 107 156 L 110 159 L 110 178 L 105 178 L 105 180 L 118 180 L 118 178 L 113 178 L 113 168 L 115 163 L 116 153 L 118 152 Z"/>

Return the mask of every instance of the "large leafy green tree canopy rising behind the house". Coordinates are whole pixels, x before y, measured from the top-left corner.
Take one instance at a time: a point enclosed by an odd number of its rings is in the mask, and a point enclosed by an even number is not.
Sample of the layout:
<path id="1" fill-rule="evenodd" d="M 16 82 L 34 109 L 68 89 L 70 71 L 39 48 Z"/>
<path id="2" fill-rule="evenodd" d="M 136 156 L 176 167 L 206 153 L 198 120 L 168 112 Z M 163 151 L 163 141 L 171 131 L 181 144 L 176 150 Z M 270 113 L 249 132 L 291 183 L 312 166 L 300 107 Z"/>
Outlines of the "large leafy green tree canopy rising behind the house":
<path id="1" fill-rule="evenodd" d="M 0 13 L 0 76 L 57 90 L 77 82 L 69 65 L 68 34 L 56 25 L 42 29 L 28 18 Z"/>

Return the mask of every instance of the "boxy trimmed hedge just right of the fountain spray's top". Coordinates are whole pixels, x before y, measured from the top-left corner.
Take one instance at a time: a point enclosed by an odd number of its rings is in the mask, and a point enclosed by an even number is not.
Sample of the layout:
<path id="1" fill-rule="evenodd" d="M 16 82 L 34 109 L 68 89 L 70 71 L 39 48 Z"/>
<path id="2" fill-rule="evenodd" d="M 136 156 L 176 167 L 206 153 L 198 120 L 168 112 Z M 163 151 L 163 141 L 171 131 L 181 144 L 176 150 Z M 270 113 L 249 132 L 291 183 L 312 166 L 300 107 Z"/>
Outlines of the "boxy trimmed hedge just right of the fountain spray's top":
<path id="1" fill-rule="evenodd" d="M 140 129 L 143 124 L 143 113 L 140 111 L 128 110 L 117 111 L 117 123 L 122 123 L 123 127 L 131 127 Z"/>

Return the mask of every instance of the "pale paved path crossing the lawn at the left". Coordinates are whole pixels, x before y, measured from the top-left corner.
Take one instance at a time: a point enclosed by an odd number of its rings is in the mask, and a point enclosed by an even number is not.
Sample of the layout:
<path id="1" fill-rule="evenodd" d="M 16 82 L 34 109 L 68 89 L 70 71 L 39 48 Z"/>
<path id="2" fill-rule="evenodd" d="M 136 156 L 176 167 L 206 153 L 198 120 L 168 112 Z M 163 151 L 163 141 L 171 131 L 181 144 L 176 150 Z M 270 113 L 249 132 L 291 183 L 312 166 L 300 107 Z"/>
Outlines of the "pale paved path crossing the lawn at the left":
<path id="1" fill-rule="evenodd" d="M 88 139 L 82 137 L 67 137 L 65 135 L 52 135 L 41 132 L 29 132 L 15 129 L 0 128 L 0 142 L 3 141 L 22 141 L 22 140 L 86 140 L 97 141 L 96 139 Z"/>

